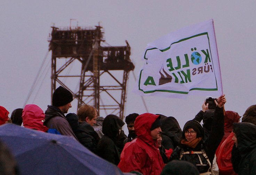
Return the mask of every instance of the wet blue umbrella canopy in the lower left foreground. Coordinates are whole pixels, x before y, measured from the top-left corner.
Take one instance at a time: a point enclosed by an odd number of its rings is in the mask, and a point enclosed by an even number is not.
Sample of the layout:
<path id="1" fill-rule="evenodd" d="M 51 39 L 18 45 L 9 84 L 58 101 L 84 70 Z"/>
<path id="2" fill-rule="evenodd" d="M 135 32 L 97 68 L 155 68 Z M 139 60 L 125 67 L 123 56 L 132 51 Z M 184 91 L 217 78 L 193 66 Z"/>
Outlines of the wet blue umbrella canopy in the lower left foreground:
<path id="1" fill-rule="evenodd" d="M 4 124 L 0 139 L 15 156 L 21 175 L 123 175 L 68 136 Z"/>

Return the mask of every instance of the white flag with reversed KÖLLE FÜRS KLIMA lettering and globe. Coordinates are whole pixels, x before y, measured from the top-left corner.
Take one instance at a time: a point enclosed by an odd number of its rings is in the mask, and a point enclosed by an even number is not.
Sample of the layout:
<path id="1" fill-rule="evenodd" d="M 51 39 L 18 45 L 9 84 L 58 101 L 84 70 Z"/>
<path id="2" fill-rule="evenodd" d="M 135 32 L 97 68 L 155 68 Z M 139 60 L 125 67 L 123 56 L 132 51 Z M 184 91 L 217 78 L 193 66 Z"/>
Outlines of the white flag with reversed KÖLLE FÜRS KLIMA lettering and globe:
<path id="1" fill-rule="evenodd" d="M 213 19 L 184 27 L 147 45 L 134 92 L 186 98 L 222 95 Z"/>

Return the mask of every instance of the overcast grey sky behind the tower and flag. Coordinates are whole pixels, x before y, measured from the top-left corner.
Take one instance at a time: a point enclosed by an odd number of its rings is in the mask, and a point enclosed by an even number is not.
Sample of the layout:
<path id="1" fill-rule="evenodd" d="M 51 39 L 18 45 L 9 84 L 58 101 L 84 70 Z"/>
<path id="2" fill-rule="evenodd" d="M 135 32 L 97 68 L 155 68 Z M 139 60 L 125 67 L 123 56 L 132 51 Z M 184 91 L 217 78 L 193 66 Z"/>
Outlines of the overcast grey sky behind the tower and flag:
<path id="1" fill-rule="evenodd" d="M 0 6 L 0 99 L 10 113 L 23 107 L 41 62 L 48 51 L 50 26 L 79 26 L 101 22 L 110 45 L 131 46 L 131 60 L 137 75 L 146 45 L 181 27 L 214 19 L 226 110 L 243 115 L 255 104 L 255 12 L 254 0 L 3 0 Z M 51 59 L 51 53 L 47 61 Z M 50 65 L 48 66 L 50 67 Z M 50 104 L 50 69 L 38 95 L 30 99 L 46 110 Z M 39 85 L 41 82 L 39 82 Z M 125 115 L 145 113 L 141 97 L 133 94 L 135 80 L 130 73 Z M 186 100 L 144 97 L 150 113 L 174 116 L 183 128 L 201 110 L 205 96 Z M 75 112 L 76 105 L 69 112 Z M 9 114 L 10 116 L 10 114 Z"/>

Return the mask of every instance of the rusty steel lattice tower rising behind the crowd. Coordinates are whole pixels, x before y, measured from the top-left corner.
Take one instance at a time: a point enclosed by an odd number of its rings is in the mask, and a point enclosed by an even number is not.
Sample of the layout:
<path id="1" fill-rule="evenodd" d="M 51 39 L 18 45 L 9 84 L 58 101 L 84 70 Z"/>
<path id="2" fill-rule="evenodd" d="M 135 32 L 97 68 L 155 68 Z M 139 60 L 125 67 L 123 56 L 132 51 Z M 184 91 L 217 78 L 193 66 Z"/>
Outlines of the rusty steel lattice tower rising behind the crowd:
<path id="1" fill-rule="evenodd" d="M 134 70 L 128 42 L 107 45 L 101 26 L 51 28 L 51 97 L 61 85 L 71 91 L 78 108 L 89 104 L 99 116 L 123 119 L 128 75 Z"/>

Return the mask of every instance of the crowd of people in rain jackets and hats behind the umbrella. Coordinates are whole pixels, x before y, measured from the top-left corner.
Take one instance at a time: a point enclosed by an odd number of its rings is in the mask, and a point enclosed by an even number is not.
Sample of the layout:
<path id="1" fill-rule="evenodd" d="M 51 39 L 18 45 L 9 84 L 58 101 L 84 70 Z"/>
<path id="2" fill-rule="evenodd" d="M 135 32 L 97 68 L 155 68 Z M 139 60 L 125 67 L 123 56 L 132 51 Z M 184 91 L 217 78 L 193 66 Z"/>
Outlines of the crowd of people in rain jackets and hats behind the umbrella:
<path id="1" fill-rule="evenodd" d="M 240 122 L 238 113 L 224 110 L 225 95 L 208 97 L 202 110 L 185 123 L 183 130 L 172 116 L 133 113 L 125 118 L 127 137 L 120 117 L 113 114 L 97 117 L 93 106 L 83 105 L 77 114 L 65 115 L 72 107 L 73 96 L 64 87 L 58 87 L 52 99 L 45 113 L 39 106 L 28 104 L 14 110 L 10 118 L 9 112 L 0 106 L 0 125 L 9 122 L 40 132 L 67 135 L 124 173 L 256 174 L 256 105 L 246 110 Z M 17 174 L 17 167 L 13 167 Z M 0 168 L 3 172 L 4 166 Z"/>

